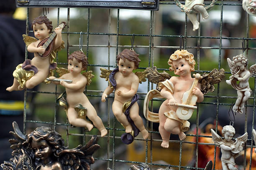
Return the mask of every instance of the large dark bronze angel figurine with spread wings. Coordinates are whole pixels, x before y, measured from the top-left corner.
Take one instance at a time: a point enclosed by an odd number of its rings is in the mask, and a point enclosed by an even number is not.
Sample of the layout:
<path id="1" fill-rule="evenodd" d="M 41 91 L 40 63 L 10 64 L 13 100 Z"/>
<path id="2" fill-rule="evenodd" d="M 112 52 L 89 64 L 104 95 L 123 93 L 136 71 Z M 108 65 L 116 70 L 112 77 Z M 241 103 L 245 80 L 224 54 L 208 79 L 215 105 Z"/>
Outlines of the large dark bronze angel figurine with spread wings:
<path id="1" fill-rule="evenodd" d="M 92 154 L 100 148 L 97 135 L 84 146 L 67 149 L 61 135 L 49 127 L 36 128 L 25 136 L 13 122 L 13 130 L 14 138 L 9 140 L 13 158 L 1 164 L 4 170 L 90 170 Z"/>

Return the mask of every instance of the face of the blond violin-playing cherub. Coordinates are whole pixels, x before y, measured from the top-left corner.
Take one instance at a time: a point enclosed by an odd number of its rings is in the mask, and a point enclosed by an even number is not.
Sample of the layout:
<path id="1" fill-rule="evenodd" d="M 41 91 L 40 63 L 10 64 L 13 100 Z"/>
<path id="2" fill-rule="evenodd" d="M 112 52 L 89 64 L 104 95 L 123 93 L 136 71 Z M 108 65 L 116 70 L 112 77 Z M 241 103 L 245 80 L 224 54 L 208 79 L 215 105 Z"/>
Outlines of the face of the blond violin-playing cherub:
<path id="1" fill-rule="evenodd" d="M 172 62 L 175 71 L 174 74 L 179 75 L 179 76 L 186 76 L 187 74 L 190 74 L 191 71 L 191 67 L 189 65 L 189 63 L 187 62 L 187 60 L 185 60 L 185 58 L 179 59 L 179 60 L 174 60 Z"/>

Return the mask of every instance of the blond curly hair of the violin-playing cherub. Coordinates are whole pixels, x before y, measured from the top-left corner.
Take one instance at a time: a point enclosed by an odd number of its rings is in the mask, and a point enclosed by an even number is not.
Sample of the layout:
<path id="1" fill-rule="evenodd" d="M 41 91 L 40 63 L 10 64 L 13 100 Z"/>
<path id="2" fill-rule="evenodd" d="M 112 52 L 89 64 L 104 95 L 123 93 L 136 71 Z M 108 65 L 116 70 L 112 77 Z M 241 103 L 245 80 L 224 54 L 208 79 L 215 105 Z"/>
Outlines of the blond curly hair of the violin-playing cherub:
<path id="1" fill-rule="evenodd" d="M 169 58 L 168 64 L 171 65 L 169 67 L 170 71 L 174 71 L 176 73 L 176 69 L 174 68 L 174 65 L 172 64 L 173 61 L 179 60 L 185 58 L 185 60 L 189 63 L 191 69 L 190 71 L 195 71 L 195 60 L 194 55 L 187 50 L 176 50 Z"/>

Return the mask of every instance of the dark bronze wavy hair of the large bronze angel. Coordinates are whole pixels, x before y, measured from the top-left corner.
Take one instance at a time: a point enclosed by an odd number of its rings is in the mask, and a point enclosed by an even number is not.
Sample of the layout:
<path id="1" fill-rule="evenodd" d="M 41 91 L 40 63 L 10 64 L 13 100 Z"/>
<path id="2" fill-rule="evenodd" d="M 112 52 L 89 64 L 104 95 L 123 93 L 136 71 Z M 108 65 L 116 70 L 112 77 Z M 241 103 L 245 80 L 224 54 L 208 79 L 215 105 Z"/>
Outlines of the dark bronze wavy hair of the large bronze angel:
<path id="1" fill-rule="evenodd" d="M 39 142 L 41 140 L 46 140 L 46 142 L 51 146 L 54 151 L 54 155 L 58 157 L 59 153 L 62 150 L 67 149 L 64 146 L 64 140 L 61 138 L 61 135 L 49 127 L 39 127 L 36 128 L 33 132 L 26 136 L 26 143 L 31 146 L 31 142 Z"/>

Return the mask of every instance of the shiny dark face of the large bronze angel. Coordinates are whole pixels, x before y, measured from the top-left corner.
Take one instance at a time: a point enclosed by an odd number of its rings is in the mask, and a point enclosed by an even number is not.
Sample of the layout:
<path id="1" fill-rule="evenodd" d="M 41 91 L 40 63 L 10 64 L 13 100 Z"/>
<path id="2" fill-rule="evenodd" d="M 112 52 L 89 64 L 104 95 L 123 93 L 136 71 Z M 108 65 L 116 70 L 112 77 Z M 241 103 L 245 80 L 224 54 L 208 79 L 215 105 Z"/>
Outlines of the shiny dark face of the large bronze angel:
<path id="1" fill-rule="evenodd" d="M 46 140 L 40 140 L 39 142 L 32 140 L 31 145 L 33 150 L 35 150 L 36 158 L 46 160 L 51 156 L 52 150 Z"/>

